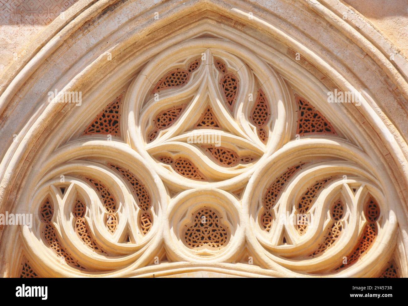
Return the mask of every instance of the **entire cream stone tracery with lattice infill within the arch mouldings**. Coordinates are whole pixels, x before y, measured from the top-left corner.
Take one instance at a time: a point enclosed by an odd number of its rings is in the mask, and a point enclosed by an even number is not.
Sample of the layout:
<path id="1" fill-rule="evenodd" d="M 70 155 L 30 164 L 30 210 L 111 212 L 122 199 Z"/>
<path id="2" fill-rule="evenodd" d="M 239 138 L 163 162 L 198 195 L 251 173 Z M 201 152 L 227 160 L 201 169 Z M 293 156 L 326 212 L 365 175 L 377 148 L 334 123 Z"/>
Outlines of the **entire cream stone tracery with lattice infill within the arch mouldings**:
<path id="1" fill-rule="evenodd" d="M 18 275 L 398 275 L 386 180 L 309 98 L 226 40 L 151 57 L 44 160 Z"/>

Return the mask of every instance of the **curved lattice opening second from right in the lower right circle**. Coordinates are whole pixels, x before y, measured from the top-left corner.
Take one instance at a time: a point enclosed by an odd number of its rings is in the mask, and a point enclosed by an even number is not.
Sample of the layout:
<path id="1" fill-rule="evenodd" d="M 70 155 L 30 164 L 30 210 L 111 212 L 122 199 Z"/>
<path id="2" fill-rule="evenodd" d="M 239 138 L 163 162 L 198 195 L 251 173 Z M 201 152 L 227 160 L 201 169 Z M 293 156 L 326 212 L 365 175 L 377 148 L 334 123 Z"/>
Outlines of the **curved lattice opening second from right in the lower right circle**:
<path id="1" fill-rule="evenodd" d="M 331 215 L 333 222 L 331 223 L 331 226 L 329 227 L 326 235 L 324 236 L 324 241 L 322 244 L 319 245 L 316 251 L 314 251 L 312 254 L 309 255 L 310 257 L 315 257 L 323 253 L 324 251 L 329 249 L 331 246 L 333 246 L 333 244 L 338 240 L 341 230 L 343 229 L 343 225 L 341 223 L 343 214 L 344 214 L 344 206 L 341 200 L 338 199 L 334 203 L 330 211 L 330 215 Z"/>

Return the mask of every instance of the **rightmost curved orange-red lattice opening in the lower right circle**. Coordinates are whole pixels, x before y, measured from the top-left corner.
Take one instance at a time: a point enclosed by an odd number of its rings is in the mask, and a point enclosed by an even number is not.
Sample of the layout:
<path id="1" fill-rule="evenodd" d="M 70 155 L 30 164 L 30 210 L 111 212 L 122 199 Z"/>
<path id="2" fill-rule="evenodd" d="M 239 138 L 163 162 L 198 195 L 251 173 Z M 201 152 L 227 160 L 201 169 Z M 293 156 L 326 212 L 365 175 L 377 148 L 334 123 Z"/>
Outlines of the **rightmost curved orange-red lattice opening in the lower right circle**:
<path id="1" fill-rule="evenodd" d="M 350 264 L 356 262 L 362 255 L 366 253 L 366 251 L 368 251 L 375 238 L 377 237 L 377 220 L 380 215 L 380 208 L 377 202 L 371 196 L 367 201 L 364 215 L 366 216 L 367 222 L 364 226 L 359 242 L 357 243 L 353 251 L 347 256 L 347 263 L 342 264 L 336 270 L 343 269 L 344 267 L 350 266 Z"/>

